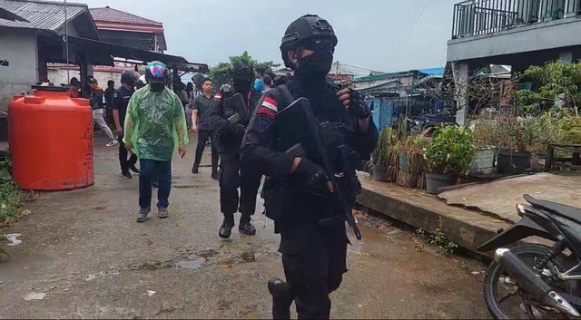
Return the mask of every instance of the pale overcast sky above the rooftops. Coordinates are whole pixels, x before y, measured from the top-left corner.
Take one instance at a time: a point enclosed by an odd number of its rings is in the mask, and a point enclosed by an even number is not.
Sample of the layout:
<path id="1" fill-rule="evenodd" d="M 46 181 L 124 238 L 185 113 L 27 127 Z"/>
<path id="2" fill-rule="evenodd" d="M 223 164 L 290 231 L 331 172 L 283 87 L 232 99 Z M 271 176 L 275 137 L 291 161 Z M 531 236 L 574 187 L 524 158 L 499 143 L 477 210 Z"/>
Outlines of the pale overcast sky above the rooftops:
<path id="1" fill-rule="evenodd" d="M 333 25 L 339 38 L 335 61 L 394 72 L 444 66 L 452 10 L 459 0 L 74 2 L 109 5 L 161 22 L 167 53 L 210 66 L 245 50 L 259 61 L 281 62 L 279 45 L 286 27 L 300 15 L 316 14 Z"/>

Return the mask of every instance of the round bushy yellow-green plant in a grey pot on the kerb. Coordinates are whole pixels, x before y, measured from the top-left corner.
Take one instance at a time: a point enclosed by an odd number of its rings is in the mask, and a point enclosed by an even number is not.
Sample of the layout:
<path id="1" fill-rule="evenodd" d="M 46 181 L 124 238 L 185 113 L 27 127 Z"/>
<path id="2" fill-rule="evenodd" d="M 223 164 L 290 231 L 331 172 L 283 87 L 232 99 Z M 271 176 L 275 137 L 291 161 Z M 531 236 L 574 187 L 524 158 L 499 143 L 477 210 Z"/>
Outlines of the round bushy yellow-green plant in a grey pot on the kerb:
<path id="1" fill-rule="evenodd" d="M 474 150 L 474 134 L 467 127 L 448 126 L 434 132 L 424 153 L 428 193 L 453 185 L 459 173 L 470 169 Z"/>

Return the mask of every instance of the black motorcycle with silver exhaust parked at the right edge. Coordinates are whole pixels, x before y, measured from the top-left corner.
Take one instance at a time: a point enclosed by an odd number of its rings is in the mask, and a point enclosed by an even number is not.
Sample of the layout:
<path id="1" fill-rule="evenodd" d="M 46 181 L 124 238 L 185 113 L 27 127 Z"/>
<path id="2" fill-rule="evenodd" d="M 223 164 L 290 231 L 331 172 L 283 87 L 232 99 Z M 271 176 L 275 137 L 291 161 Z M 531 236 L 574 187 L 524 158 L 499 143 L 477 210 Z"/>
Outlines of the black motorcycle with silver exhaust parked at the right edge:
<path id="1" fill-rule="evenodd" d="M 495 250 L 484 279 L 488 311 L 497 319 L 579 318 L 581 209 L 525 195 L 517 224 L 478 247 Z M 537 236 L 553 247 L 517 241 Z"/>

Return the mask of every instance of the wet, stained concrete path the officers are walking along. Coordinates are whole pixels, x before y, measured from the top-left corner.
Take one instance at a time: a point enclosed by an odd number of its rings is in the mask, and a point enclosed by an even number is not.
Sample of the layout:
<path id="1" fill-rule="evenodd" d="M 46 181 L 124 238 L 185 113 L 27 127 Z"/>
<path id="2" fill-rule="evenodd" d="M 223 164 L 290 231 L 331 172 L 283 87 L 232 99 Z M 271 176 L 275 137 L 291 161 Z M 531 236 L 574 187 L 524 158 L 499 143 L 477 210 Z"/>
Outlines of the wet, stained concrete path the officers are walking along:
<path id="1" fill-rule="evenodd" d="M 266 282 L 283 275 L 279 236 L 257 215 L 255 237 L 236 228 L 218 238 L 218 183 L 209 168 L 190 172 L 195 144 L 173 161 L 170 218 L 138 224 L 136 177 L 122 179 L 116 148 L 96 143 L 94 187 L 40 194 L 10 230 L 24 243 L 0 262 L 0 318 L 270 317 Z M 331 317 L 488 316 L 485 266 L 428 246 L 419 252 L 408 232 L 359 220 L 364 239 L 350 247 Z"/>

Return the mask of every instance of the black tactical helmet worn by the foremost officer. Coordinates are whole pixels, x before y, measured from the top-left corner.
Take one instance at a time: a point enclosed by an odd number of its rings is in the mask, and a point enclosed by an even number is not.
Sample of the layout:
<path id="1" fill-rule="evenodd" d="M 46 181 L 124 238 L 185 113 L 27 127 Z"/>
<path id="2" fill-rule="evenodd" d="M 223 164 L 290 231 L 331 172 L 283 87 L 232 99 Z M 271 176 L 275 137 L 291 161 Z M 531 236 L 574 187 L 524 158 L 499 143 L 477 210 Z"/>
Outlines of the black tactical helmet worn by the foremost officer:
<path id="1" fill-rule="evenodd" d="M 294 68 L 287 53 L 300 48 L 301 44 L 312 39 L 329 39 L 333 46 L 337 45 L 337 36 L 333 27 L 319 15 L 303 15 L 289 24 L 281 42 L 281 56 L 284 65 Z"/>

